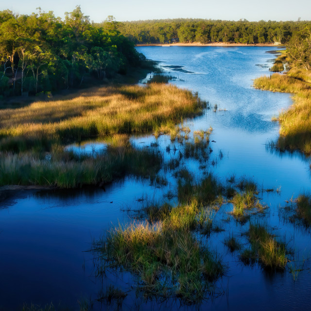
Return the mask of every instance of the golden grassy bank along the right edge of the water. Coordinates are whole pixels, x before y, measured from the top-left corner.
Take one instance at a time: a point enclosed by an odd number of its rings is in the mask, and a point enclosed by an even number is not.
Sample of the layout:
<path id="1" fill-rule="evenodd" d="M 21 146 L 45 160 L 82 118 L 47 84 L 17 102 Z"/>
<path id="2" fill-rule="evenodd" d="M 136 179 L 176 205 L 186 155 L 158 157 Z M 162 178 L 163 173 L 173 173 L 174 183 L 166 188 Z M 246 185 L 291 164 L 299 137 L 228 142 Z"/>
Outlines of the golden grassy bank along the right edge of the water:
<path id="1" fill-rule="evenodd" d="M 271 77 L 260 77 L 254 81 L 256 88 L 294 93 L 294 104 L 282 111 L 279 138 L 276 148 L 284 150 L 300 150 L 311 154 L 311 72 L 309 70 L 292 69 L 287 74 L 273 74 Z"/>

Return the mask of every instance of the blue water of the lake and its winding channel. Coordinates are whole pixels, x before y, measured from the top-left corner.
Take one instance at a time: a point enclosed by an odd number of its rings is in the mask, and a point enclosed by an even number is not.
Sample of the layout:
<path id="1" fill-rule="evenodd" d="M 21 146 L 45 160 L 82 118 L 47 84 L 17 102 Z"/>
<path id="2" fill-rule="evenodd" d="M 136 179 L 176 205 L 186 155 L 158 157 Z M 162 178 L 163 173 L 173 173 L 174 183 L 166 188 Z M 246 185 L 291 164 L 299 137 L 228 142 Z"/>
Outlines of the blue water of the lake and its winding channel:
<path id="1" fill-rule="evenodd" d="M 208 238 L 211 248 L 221 253 L 227 265 L 226 275 L 217 283 L 213 299 L 200 306 L 181 306 L 178 301 L 159 302 L 136 297 L 135 284 L 127 273 L 96 276 L 94 256 L 88 252 L 93 239 L 107 229 L 131 221 L 128 209 L 139 209 L 148 200 L 163 201 L 176 192 L 172 172 L 168 184 L 127 177 L 105 189 L 83 190 L 10 190 L 0 201 L 0 311 L 21 310 L 24 303 L 46 305 L 53 302 L 59 310 L 80 310 L 90 301 L 93 310 L 108 310 L 96 301 L 109 284 L 128 293 L 124 310 L 310 310 L 311 305 L 311 233 L 287 222 L 280 214 L 285 200 L 311 190 L 310 159 L 294 154 L 279 154 L 267 148 L 278 135 L 278 123 L 272 122 L 281 109 L 292 104 L 290 94 L 256 90 L 253 79 L 269 75 L 275 57 L 271 47 L 139 47 L 148 59 L 159 61 L 171 83 L 198 92 L 217 111 L 206 110 L 194 120 L 184 121 L 191 131 L 213 128 L 210 142 L 213 165 L 202 167 L 198 161 L 183 163 L 197 176 L 213 172 L 222 182 L 232 174 L 250 176 L 260 189 L 278 189 L 259 197 L 269 207 L 261 222 L 285 237 L 295 251 L 297 267 L 303 267 L 294 281 L 289 269 L 268 273 L 258 264 L 244 266 L 238 254 L 224 245 L 229 233 L 241 237 L 248 224 L 228 218 L 231 207 L 224 206 L 214 222 L 225 231 Z M 152 74 L 151 74 L 152 76 Z M 150 75 L 148 76 L 150 78 Z M 169 137 L 133 137 L 139 148 L 155 148 L 166 159 L 182 148 Z M 79 152 L 104 152 L 102 142 L 68 146 Z M 87 151 L 88 150 L 88 151 Z M 222 156 L 220 156 L 222 154 Z M 209 162 L 210 163 L 210 162 Z M 172 195 L 172 201 L 176 198 Z M 96 260 L 95 260 L 96 261 Z M 114 310 L 116 306 L 110 306 Z M 61 309 L 68 308 L 68 309 Z M 58 310 L 58 309 L 57 309 Z"/>

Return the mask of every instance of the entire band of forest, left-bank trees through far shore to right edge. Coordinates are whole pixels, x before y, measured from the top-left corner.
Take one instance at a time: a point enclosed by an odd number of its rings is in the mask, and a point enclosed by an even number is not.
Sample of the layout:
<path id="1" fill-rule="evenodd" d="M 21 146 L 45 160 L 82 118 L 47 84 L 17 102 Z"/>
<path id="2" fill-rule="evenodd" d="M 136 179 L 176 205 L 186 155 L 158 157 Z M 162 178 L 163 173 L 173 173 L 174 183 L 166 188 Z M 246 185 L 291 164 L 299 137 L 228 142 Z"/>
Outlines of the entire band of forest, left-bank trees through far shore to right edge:
<path id="1" fill-rule="evenodd" d="M 288 62 L 310 68 L 310 21 L 222 21 L 166 19 L 118 22 L 108 16 L 91 22 L 80 6 L 65 13 L 18 15 L 0 11 L 0 98 L 49 94 L 106 80 L 141 67 L 140 43 L 281 42 L 289 47 Z M 92 79 L 92 80 L 90 80 Z"/>

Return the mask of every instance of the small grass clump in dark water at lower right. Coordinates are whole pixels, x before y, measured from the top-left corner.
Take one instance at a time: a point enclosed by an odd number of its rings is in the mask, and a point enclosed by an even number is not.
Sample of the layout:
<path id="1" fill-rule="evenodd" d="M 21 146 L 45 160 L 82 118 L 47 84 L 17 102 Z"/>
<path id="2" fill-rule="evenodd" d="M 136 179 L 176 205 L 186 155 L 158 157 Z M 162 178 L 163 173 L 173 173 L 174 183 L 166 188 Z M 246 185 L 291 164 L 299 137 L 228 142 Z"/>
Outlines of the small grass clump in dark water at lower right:
<path id="1" fill-rule="evenodd" d="M 250 254 L 256 253 L 259 261 L 265 267 L 285 268 L 288 261 L 285 243 L 276 241 L 275 236 L 270 234 L 265 226 L 250 224 L 248 239 L 252 246 Z"/>

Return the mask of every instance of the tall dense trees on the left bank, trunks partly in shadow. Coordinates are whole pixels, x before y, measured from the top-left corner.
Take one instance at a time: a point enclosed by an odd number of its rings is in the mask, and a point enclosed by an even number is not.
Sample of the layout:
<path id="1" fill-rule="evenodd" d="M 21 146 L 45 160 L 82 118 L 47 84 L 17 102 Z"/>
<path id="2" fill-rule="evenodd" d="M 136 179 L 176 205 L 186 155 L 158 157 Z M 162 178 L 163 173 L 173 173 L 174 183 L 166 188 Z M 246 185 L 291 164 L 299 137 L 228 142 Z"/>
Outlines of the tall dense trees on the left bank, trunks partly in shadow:
<path id="1" fill-rule="evenodd" d="M 143 58 L 120 31 L 94 27 L 80 6 L 65 13 L 65 20 L 40 9 L 31 15 L 0 11 L 0 97 L 104 80 L 125 74 Z"/>

